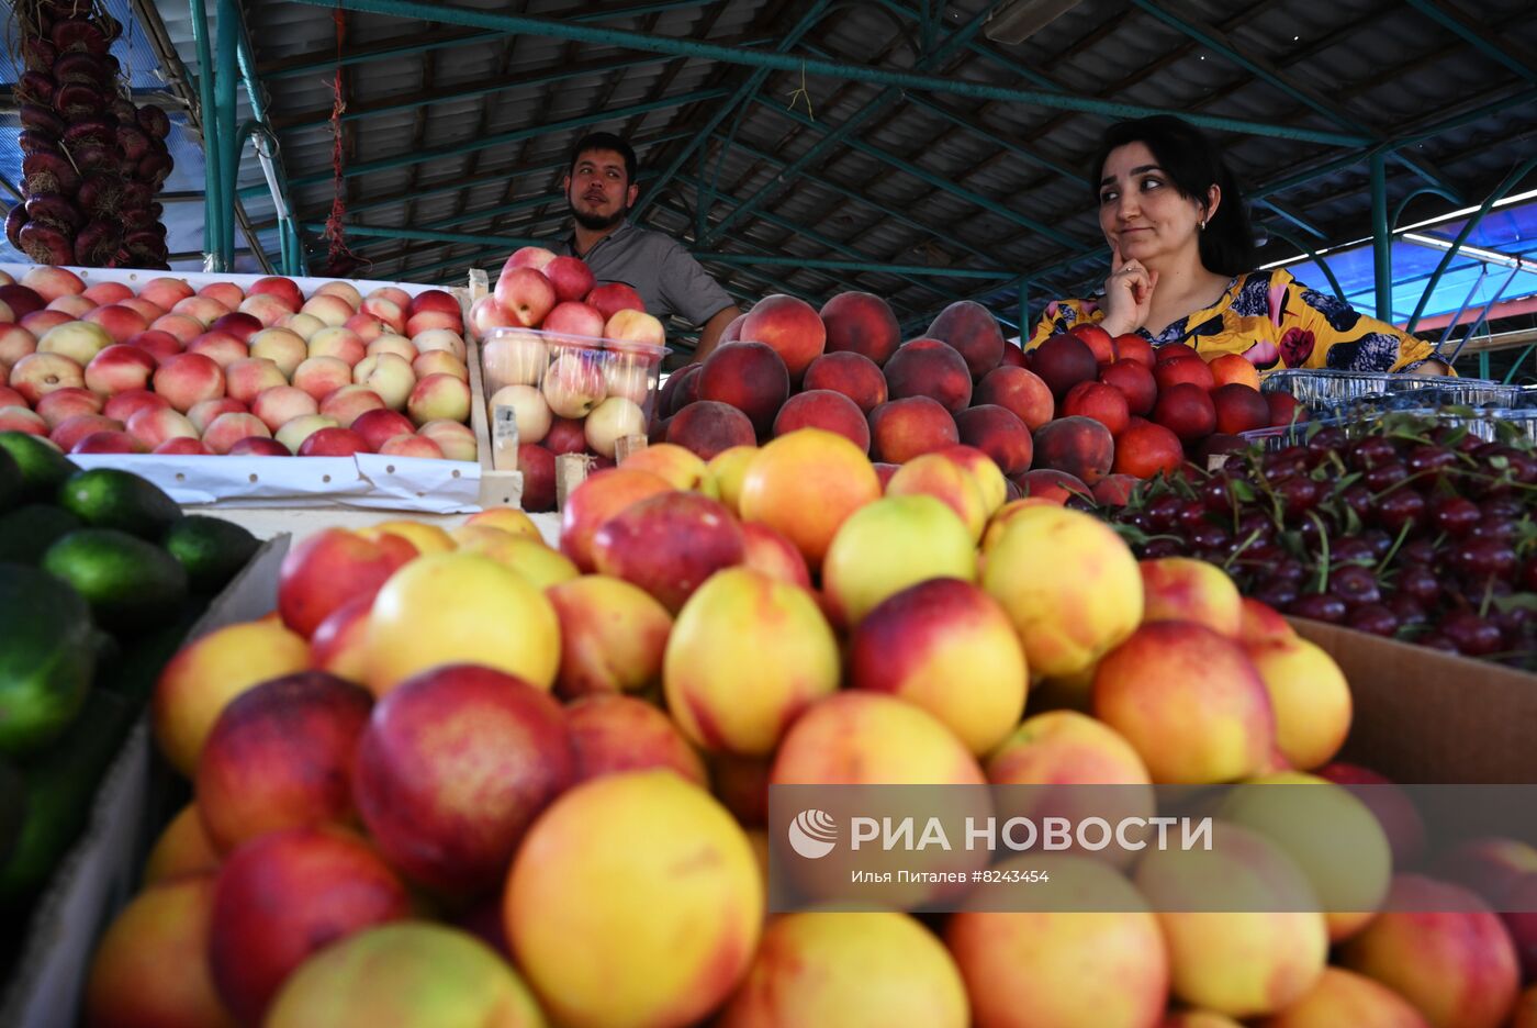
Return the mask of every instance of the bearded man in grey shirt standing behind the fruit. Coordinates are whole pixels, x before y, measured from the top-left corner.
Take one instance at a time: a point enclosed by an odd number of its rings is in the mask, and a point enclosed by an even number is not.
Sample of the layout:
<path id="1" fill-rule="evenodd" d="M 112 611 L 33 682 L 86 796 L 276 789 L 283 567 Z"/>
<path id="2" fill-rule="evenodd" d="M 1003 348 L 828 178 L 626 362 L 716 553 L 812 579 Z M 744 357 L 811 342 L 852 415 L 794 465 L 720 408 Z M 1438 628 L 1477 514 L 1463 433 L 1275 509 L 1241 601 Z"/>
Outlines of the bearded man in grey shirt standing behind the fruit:
<path id="1" fill-rule="evenodd" d="M 741 310 L 678 240 L 630 223 L 639 195 L 630 144 L 612 132 L 583 137 L 563 187 L 575 224 L 572 235 L 550 249 L 587 261 L 599 284 L 630 286 L 649 313 L 662 320 L 678 315 L 698 326 L 695 360 L 709 355 Z"/>

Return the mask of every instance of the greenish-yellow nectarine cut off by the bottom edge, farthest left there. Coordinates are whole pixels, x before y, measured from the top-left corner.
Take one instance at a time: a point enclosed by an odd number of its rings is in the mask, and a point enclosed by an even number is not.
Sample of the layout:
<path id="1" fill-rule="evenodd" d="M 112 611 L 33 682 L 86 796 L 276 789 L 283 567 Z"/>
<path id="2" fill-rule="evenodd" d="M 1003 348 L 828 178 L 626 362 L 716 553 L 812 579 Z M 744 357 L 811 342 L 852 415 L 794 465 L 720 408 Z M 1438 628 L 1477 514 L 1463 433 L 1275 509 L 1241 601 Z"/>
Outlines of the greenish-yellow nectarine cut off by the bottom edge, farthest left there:
<path id="1" fill-rule="evenodd" d="M 317 1013 L 320 1011 L 320 1013 Z M 507 960 L 464 931 L 389 924 L 307 959 L 277 994 L 269 1028 L 539 1028 L 544 1016 Z"/>

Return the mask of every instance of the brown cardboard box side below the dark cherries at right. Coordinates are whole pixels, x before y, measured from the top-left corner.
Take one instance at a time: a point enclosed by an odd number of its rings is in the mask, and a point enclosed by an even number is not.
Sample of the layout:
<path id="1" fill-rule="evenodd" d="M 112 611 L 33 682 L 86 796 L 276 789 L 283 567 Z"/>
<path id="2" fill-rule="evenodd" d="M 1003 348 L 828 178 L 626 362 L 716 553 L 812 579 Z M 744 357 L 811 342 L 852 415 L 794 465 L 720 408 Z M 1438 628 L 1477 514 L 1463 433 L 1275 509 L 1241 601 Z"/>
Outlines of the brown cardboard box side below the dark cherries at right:
<path id="1" fill-rule="evenodd" d="M 1356 718 L 1342 761 L 1396 782 L 1537 782 L 1537 675 L 1291 618 L 1345 672 Z"/>

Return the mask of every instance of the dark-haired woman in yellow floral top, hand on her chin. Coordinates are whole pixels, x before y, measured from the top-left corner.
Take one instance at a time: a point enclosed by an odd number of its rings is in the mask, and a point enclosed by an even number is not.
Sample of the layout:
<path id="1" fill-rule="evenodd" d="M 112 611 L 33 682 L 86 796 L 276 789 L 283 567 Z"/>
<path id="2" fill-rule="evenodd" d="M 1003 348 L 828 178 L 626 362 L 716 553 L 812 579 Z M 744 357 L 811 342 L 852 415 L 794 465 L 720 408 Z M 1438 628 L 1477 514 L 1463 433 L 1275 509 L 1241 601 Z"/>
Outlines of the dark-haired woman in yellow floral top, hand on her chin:
<path id="1" fill-rule="evenodd" d="M 1222 154 L 1170 115 L 1122 121 L 1094 167 L 1111 267 L 1099 300 L 1047 306 L 1025 349 L 1077 324 L 1185 343 L 1208 361 L 1242 353 L 1260 370 L 1328 367 L 1443 375 L 1429 343 L 1310 289 L 1280 267 L 1254 270 L 1243 197 Z"/>

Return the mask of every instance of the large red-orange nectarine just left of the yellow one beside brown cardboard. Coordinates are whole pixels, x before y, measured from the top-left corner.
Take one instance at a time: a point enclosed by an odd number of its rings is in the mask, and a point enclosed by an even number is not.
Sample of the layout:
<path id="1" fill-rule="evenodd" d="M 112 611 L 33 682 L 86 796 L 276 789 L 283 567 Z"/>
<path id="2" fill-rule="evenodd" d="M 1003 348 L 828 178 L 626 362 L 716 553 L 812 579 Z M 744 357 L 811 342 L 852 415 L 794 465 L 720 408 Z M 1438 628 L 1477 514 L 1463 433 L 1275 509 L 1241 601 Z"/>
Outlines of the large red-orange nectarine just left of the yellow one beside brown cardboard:
<path id="1" fill-rule="evenodd" d="M 1093 704 L 1160 784 L 1250 778 L 1276 744 L 1270 695 L 1242 647 L 1193 622 L 1145 624 L 1110 650 Z"/>

